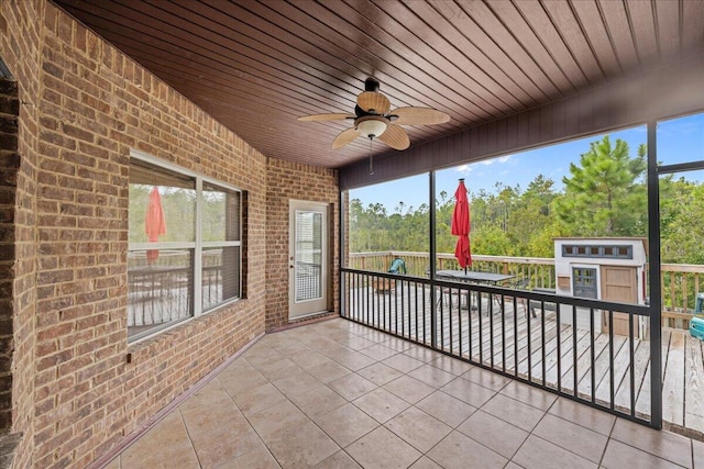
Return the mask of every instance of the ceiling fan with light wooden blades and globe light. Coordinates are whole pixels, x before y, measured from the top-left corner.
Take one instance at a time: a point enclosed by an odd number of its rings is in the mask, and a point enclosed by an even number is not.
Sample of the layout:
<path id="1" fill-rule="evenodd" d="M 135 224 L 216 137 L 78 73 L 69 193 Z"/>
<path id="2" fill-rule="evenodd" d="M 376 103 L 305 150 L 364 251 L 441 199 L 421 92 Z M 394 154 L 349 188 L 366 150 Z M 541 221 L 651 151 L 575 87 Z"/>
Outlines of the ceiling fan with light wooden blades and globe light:
<path id="1" fill-rule="evenodd" d="M 354 126 L 340 133 L 332 141 L 332 148 L 342 148 L 359 136 L 378 139 L 395 149 L 410 146 L 408 134 L 402 125 L 442 124 L 450 121 L 444 112 L 429 108 L 398 108 L 391 111 L 388 98 L 378 92 L 380 83 L 375 78 L 364 81 L 364 91 L 356 97 L 354 114 L 332 113 L 314 114 L 298 118 L 299 121 L 342 121 L 353 119 Z"/>

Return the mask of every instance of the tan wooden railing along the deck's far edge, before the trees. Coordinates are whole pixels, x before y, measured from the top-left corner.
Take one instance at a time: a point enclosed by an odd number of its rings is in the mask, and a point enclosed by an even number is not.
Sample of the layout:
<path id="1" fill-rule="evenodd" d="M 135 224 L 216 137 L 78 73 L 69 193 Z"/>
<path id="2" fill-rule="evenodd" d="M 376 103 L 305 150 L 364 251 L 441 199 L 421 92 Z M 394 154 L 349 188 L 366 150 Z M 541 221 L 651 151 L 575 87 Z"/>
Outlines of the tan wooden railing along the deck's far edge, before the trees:
<path id="1" fill-rule="evenodd" d="M 408 275 L 426 277 L 430 269 L 428 253 L 419 252 L 377 252 L 352 253 L 348 266 L 352 269 L 386 272 L 388 266 L 400 257 L 406 263 Z M 510 273 L 528 279 L 528 288 L 554 288 L 554 259 L 544 257 L 502 257 L 472 256 L 472 270 Z M 438 254 L 437 268 L 458 269 L 453 254 Z M 663 264 L 660 284 L 662 288 L 662 325 L 664 327 L 690 327 L 695 314 L 696 297 L 704 293 L 704 266 L 690 264 Z M 701 311 L 696 313 L 702 313 Z"/>

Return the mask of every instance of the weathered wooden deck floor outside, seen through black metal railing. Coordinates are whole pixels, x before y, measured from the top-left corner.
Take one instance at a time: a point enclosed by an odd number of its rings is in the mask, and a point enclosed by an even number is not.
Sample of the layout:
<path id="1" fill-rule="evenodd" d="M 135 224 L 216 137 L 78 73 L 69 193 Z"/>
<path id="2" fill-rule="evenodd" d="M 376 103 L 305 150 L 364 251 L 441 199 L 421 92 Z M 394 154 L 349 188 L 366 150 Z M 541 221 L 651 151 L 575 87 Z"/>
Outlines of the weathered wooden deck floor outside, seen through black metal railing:
<path id="1" fill-rule="evenodd" d="M 429 299 L 427 288 L 361 288 L 350 291 L 348 311 L 353 320 L 431 345 Z M 479 308 L 471 314 L 457 297 L 435 305 L 438 349 L 626 414 L 632 399 L 635 415 L 650 421 L 649 340 L 634 338 L 631 350 L 628 337 L 609 339 L 601 331 L 592 337 L 587 330 L 558 325 L 554 311 L 531 317 L 513 298 L 504 299 L 503 309 L 498 301 L 490 305 L 488 297 L 473 301 Z M 685 331 L 663 330 L 663 426 L 698 439 L 704 439 L 702 344 Z"/>

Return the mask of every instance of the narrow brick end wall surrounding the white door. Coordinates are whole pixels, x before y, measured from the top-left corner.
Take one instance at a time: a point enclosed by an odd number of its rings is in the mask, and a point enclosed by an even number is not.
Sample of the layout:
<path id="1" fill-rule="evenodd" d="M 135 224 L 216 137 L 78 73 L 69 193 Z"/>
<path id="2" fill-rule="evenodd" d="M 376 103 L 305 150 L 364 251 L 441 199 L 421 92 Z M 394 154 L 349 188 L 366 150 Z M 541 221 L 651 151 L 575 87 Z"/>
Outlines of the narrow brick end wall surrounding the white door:
<path id="1" fill-rule="evenodd" d="M 328 243 L 330 279 L 332 291 L 330 309 L 338 308 L 339 301 L 339 196 L 338 172 L 316 168 L 300 163 L 270 159 L 267 166 L 266 191 L 266 330 L 271 331 L 288 324 L 288 202 L 306 200 L 324 202 L 332 210 L 329 213 L 331 239 Z M 283 267 L 282 269 L 276 267 Z"/>

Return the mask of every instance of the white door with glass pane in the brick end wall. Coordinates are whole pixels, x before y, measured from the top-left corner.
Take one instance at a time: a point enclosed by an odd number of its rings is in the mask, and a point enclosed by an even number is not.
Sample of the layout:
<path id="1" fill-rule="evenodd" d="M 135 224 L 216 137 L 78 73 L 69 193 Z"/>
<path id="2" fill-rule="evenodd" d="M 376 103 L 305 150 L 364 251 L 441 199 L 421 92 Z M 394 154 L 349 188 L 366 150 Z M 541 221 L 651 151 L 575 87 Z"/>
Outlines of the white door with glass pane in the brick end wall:
<path id="1" fill-rule="evenodd" d="M 289 319 L 328 310 L 328 205 L 290 201 Z"/>

